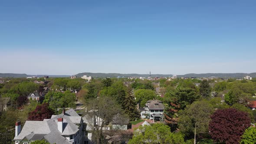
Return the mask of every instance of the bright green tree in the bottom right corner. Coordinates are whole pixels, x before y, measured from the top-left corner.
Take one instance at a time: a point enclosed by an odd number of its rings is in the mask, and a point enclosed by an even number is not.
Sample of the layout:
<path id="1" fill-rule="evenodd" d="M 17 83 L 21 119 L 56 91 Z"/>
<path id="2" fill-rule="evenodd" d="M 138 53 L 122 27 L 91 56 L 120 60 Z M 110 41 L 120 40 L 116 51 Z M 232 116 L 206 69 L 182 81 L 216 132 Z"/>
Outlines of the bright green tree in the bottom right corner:
<path id="1" fill-rule="evenodd" d="M 240 144 L 255 144 L 256 143 L 256 128 L 250 127 L 245 130 L 241 136 Z"/>

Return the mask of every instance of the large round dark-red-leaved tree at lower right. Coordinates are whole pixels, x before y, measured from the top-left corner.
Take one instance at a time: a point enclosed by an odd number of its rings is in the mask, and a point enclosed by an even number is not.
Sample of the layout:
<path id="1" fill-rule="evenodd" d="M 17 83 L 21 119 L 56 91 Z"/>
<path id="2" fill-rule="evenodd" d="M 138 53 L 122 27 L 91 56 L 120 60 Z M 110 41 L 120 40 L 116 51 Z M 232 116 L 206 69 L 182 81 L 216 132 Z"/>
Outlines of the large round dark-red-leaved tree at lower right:
<path id="1" fill-rule="evenodd" d="M 250 126 L 248 113 L 234 108 L 217 110 L 209 123 L 210 135 L 215 142 L 239 144 L 243 132 Z"/>

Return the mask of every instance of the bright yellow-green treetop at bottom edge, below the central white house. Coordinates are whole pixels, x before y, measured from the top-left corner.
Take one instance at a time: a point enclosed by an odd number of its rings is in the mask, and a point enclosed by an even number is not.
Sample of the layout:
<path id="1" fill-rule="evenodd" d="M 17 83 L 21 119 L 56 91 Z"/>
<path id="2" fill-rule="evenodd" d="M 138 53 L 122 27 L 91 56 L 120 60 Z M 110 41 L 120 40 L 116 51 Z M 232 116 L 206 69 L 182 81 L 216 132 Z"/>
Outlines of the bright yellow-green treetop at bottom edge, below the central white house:
<path id="1" fill-rule="evenodd" d="M 144 125 L 137 128 L 128 144 L 185 144 L 184 135 L 171 133 L 165 124 Z"/>

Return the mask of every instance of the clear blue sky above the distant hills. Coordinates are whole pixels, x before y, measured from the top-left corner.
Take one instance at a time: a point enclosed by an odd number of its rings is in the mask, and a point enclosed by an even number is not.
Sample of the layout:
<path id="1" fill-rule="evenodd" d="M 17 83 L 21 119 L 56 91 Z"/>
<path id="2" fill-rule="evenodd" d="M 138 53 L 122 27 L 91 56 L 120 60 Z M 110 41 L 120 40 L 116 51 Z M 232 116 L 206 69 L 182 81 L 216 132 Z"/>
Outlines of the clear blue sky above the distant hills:
<path id="1" fill-rule="evenodd" d="M 256 72 L 256 0 L 2 0 L 0 73 Z"/>

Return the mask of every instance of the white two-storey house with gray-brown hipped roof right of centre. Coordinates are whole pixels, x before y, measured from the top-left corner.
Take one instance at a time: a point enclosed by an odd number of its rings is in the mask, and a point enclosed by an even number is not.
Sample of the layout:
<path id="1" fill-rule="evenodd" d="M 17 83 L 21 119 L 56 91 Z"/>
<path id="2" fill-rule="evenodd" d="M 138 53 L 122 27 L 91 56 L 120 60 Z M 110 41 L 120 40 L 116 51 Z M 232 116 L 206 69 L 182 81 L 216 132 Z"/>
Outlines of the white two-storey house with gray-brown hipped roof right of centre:
<path id="1" fill-rule="evenodd" d="M 148 118 L 154 121 L 163 119 L 164 105 L 162 101 L 150 100 L 147 101 L 144 108 L 140 108 L 141 118 Z"/>

